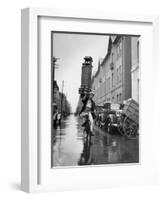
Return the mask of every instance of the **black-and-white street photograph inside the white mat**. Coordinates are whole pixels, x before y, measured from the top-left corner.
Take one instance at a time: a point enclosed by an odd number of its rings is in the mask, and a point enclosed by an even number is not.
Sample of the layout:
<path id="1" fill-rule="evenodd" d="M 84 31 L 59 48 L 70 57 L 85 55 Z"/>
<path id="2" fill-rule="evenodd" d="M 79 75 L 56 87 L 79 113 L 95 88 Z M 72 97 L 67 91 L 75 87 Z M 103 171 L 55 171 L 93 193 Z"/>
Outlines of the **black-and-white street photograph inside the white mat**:
<path id="1" fill-rule="evenodd" d="M 51 32 L 51 167 L 139 163 L 140 35 Z"/>

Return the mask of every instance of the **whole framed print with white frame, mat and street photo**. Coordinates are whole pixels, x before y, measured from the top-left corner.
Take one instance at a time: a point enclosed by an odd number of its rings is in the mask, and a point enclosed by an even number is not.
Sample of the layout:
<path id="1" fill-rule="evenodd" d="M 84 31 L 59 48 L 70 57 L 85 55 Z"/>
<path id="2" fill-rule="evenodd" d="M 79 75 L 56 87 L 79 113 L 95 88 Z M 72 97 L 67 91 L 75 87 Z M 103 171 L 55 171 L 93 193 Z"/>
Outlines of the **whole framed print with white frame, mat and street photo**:
<path id="1" fill-rule="evenodd" d="M 23 9 L 22 190 L 157 183 L 157 69 L 156 16 Z"/>

